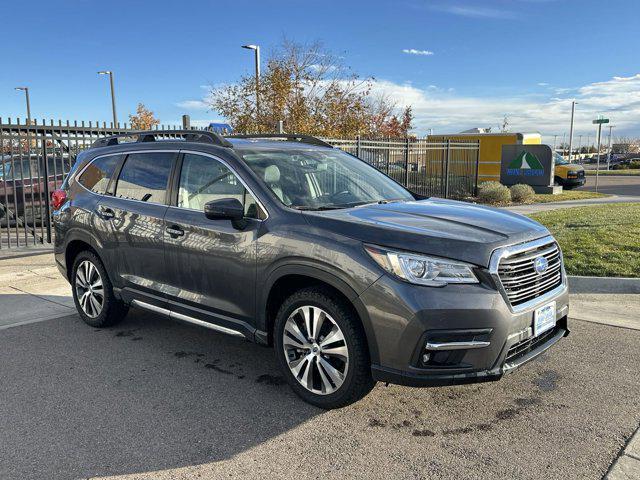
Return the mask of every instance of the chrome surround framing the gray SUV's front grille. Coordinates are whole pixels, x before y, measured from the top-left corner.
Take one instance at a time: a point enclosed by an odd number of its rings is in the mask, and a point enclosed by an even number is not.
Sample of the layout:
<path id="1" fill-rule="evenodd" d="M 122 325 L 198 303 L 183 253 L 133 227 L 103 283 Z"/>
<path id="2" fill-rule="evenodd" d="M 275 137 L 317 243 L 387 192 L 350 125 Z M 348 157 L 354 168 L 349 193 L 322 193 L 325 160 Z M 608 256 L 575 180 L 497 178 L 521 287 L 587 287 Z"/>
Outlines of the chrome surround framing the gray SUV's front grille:
<path id="1" fill-rule="evenodd" d="M 558 252 L 560 253 L 560 262 L 561 262 L 561 275 L 560 275 L 560 285 L 558 285 L 553 290 L 550 290 L 539 297 L 529 300 L 528 302 L 521 303 L 520 305 L 516 305 L 515 307 L 511 305 L 507 292 L 505 291 L 502 281 L 500 280 L 500 276 L 498 275 L 498 266 L 500 265 L 500 260 L 505 257 L 509 257 L 511 255 L 515 255 L 518 253 L 525 252 L 527 250 L 531 250 L 532 248 L 542 247 L 549 243 L 556 243 L 556 239 L 551 235 L 547 235 L 546 237 L 539 238 L 537 240 L 532 240 L 530 242 L 517 243 L 515 245 L 508 245 L 506 247 L 500 247 L 495 249 L 491 253 L 491 260 L 489 261 L 489 273 L 493 278 L 494 282 L 498 287 L 498 291 L 502 295 L 502 298 L 506 302 L 509 310 L 512 313 L 523 313 L 526 311 L 534 310 L 536 307 L 542 305 L 545 302 L 548 302 L 555 297 L 563 294 L 567 291 L 567 274 L 564 270 L 564 258 L 562 256 L 562 249 L 560 245 L 558 245 Z"/>

